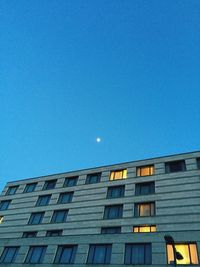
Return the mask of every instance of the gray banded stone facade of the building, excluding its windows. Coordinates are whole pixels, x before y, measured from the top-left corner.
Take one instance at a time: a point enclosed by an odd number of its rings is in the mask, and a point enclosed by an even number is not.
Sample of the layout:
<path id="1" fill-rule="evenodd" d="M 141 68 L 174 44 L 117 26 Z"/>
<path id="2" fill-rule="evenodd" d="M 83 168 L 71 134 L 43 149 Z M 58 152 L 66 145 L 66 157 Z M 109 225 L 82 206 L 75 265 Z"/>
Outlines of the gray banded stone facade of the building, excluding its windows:
<path id="1" fill-rule="evenodd" d="M 167 264 L 165 235 L 171 235 L 176 243 L 194 243 L 200 253 L 200 151 L 171 155 L 153 159 L 138 160 L 91 168 L 62 174 L 42 176 L 9 182 L 0 201 L 10 200 L 7 209 L 0 210 L 3 220 L 0 224 L 0 260 L 5 247 L 19 247 L 13 263 L 4 266 L 125 266 L 125 245 L 150 243 L 152 248 L 151 266 Z M 169 162 L 185 162 L 186 169 L 166 171 Z M 152 175 L 138 176 L 137 168 L 153 166 Z M 127 170 L 127 178 L 110 180 L 110 173 Z M 87 175 L 101 173 L 100 182 L 86 184 Z M 66 178 L 78 177 L 75 186 L 63 187 Z M 56 179 L 54 189 L 43 190 L 46 181 Z M 155 193 L 136 194 L 136 184 L 154 182 Z M 37 183 L 33 192 L 25 193 L 27 184 Z M 107 198 L 108 187 L 125 186 L 123 197 Z M 18 186 L 15 194 L 7 195 L 10 187 Z M 58 204 L 61 193 L 73 192 L 72 201 Z M 39 196 L 51 195 L 45 206 L 36 206 Z M 154 203 L 155 214 L 136 216 L 135 207 L 140 203 Z M 123 205 L 122 218 L 105 219 L 105 206 Z M 55 210 L 68 210 L 66 222 L 52 223 Z M 41 223 L 28 224 L 35 212 L 44 212 Z M 134 233 L 134 226 L 155 225 L 156 232 Z M 102 227 L 121 227 L 121 233 L 102 234 Z M 49 230 L 62 230 L 61 236 L 47 237 Z M 24 232 L 36 231 L 36 237 L 22 238 Z M 91 244 L 111 244 L 109 264 L 87 263 Z M 55 263 L 58 246 L 77 245 L 73 264 Z M 25 263 L 30 246 L 47 246 L 42 263 Z M 199 255 L 198 255 L 199 257 Z M 198 263 L 199 264 L 199 263 Z M 198 265 L 197 264 L 197 265 Z M 134 264 L 130 264 L 133 266 Z M 142 264 L 150 265 L 150 264 Z M 135 264 L 134 266 L 141 266 Z M 181 265 L 179 265 L 181 266 Z M 185 266 L 185 265 L 183 265 Z M 187 266 L 194 266 L 192 263 Z"/>

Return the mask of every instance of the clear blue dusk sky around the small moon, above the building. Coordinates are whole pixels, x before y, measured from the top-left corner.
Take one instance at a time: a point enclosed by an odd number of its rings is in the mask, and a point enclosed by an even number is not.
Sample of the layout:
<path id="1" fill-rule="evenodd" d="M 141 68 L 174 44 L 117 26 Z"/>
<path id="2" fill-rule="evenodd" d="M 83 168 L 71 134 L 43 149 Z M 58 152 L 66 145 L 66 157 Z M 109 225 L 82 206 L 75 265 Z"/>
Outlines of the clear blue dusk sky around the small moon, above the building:
<path id="1" fill-rule="evenodd" d="M 199 0 L 0 5 L 1 187 L 199 150 Z"/>

